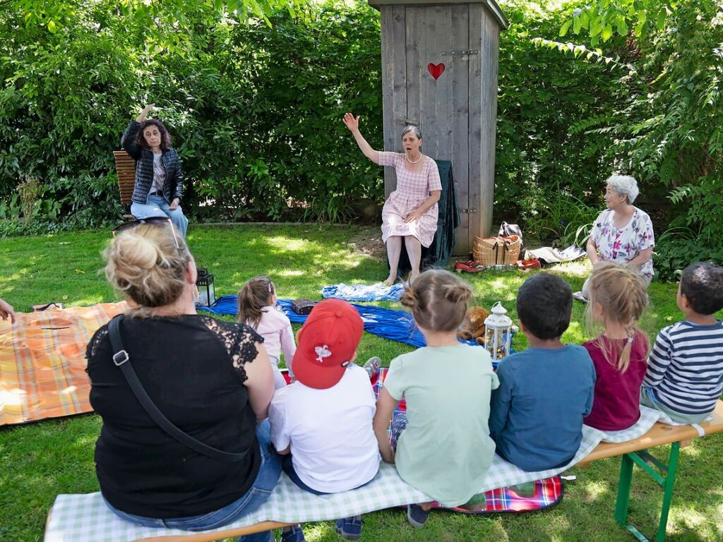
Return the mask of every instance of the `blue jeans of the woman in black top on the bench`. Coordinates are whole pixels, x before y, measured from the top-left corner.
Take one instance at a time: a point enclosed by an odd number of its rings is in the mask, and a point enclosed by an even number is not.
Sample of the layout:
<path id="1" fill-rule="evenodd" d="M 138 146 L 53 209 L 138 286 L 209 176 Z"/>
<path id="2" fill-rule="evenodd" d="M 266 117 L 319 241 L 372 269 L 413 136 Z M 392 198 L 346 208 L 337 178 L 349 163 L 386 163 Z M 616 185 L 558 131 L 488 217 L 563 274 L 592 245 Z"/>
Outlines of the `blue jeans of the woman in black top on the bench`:
<path id="1" fill-rule="evenodd" d="M 121 512 L 108 505 L 118 517 L 143 527 L 169 528 L 182 530 L 209 530 L 228 523 L 234 522 L 239 517 L 254 512 L 268 499 L 271 491 L 276 486 L 281 476 L 281 457 L 271 449 L 270 426 L 268 420 L 263 421 L 256 427 L 256 437 L 261 448 L 261 466 L 254 481 L 254 485 L 240 499 L 226 505 L 225 507 L 198 516 L 174 517 L 171 520 L 159 520 L 153 517 L 142 517 Z M 268 542 L 272 540 L 272 531 L 245 535 L 239 537 L 239 542 Z"/>

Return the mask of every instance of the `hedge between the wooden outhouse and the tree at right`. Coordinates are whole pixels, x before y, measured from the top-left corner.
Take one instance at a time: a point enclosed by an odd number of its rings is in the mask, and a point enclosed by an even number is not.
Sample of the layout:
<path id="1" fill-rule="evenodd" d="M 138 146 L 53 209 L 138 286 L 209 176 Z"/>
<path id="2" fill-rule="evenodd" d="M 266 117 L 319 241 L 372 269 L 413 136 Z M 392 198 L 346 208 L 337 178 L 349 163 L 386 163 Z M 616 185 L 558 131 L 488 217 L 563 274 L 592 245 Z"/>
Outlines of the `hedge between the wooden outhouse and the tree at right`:
<path id="1" fill-rule="evenodd" d="M 542 238 L 574 240 L 599 212 L 612 173 L 603 159 L 612 136 L 581 132 L 615 114 L 617 75 L 597 54 L 589 61 L 552 43 L 559 7 L 510 0 L 503 9 L 511 24 L 500 35 L 495 215 Z"/>

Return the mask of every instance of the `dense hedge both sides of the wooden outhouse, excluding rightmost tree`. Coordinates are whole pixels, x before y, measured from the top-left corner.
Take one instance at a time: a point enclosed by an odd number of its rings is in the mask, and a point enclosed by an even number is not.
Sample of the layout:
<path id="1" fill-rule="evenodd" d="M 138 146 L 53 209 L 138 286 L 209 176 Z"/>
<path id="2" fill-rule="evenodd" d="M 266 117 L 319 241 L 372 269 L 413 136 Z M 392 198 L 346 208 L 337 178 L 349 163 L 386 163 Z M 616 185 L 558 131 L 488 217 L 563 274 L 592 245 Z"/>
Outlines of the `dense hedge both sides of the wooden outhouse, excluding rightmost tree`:
<path id="1" fill-rule="evenodd" d="M 85 7 L 56 33 L 0 19 L 1 34 L 12 35 L 0 65 L 2 214 L 17 214 L 7 198 L 30 175 L 46 188 L 41 199 L 60 202 L 60 215 L 88 224 L 116 217 L 111 150 L 147 102 L 174 135 L 192 185 L 184 205 L 199 219 L 343 220 L 380 202 L 379 169 L 339 121 L 361 114 L 381 147 L 378 12 L 364 2 L 323 4 L 277 12 L 268 26 L 195 9 L 205 24 L 160 51 L 132 12 L 117 14 L 110 2 Z M 542 212 L 544 222 L 550 191 L 597 197 L 609 169 L 599 162 L 604 138 L 591 146 L 568 127 L 613 107 L 612 77 L 533 42 L 556 35 L 561 12 L 525 2 L 505 10 L 513 25 L 501 39 L 496 210 Z"/>

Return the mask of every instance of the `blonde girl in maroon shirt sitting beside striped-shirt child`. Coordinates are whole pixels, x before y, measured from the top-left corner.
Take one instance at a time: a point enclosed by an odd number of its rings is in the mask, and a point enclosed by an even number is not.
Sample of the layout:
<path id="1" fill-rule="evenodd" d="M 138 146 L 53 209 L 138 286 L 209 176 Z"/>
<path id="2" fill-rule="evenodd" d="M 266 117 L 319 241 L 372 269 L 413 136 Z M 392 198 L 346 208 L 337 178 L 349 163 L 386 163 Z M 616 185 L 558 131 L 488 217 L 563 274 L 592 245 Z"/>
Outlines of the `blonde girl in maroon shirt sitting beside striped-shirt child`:
<path id="1" fill-rule="evenodd" d="M 588 426 L 621 431 L 640 418 L 640 388 L 647 369 L 648 336 L 638 319 L 648 304 L 646 284 L 636 270 L 612 262 L 596 264 L 590 277 L 588 323 L 604 326 L 583 343 L 595 365 L 595 398 Z"/>

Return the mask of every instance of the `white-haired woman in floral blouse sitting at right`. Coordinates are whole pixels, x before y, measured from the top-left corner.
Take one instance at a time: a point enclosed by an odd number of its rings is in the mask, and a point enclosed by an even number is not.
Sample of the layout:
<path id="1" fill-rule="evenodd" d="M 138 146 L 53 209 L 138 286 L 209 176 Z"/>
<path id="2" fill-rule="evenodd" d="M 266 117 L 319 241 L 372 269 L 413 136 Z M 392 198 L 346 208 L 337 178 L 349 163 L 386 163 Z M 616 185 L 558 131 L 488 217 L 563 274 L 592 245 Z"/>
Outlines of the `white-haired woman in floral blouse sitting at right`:
<path id="1" fill-rule="evenodd" d="M 596 218 L 587 243 L 587 254 L 597 262 L 617 262 L 633 267 L 648 286 L 653 278 L 653 247 L 655 236 L 648 213 L 633 202 L 638 197 L 638 182 L 628 175 L 613 175 L 605 181 L 607 209 Z M 589 279 L 581 292 L 573 293 L 580 301 L 587 301 Z"/>

